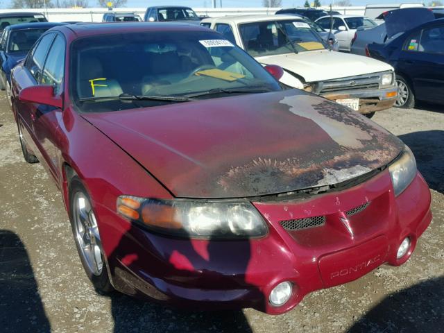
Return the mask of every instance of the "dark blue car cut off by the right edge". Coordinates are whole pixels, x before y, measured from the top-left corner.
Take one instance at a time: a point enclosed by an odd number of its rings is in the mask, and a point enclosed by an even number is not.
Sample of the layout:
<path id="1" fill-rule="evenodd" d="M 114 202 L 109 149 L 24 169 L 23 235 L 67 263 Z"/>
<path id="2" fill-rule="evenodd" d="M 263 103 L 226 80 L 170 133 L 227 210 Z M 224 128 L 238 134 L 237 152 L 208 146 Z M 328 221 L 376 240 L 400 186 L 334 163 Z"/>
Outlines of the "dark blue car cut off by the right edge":
<path id="1" fill-rule="evenodd" d="M 395 106 L 413 108 L 416 100 L 444 104 L 444 19 L 416 26 L 387 44 L 368 44 L 368 53 L 395 68 Z"/>

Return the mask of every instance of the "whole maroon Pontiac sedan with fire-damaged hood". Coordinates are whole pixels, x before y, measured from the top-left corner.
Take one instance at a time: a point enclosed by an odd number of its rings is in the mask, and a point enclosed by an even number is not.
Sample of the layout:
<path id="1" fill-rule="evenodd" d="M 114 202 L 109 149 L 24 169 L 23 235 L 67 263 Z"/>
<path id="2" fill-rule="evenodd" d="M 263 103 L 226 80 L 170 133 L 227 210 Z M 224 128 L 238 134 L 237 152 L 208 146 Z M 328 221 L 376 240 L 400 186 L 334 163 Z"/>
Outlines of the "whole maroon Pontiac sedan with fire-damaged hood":
<path id="1" fill-rule="evenodd" d="M 409 148 L 266 69 L 187 24 L 59 26 L 15 67 L 96 289 L 281 314 L 409 259 L 432 219 Z"/>

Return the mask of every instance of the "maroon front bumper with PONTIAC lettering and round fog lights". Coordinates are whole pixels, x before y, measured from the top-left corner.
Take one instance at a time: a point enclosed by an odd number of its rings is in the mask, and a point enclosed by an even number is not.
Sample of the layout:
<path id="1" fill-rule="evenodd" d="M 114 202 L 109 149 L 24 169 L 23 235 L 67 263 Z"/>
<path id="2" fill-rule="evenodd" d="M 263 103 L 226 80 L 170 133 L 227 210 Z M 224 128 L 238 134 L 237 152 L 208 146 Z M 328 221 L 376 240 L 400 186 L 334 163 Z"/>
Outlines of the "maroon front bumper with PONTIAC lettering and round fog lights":
<path id="1" fill-rule="evenodd" d="M 117 290 L 194 309 L 253 307 L 282 314 L 311 291 L 356 280 L 384 263 L 407 261 L 432 219 L 430 201 L 420 173 L 395 197 L 390 175 L 383 171 L 343 191 L 253 202 L 268 234 L 238 241 L 164 237 L 130 225 L 101 205 L 95 209 Z M 363 204 L 364 210 L 350 213 Z M 282 221 L 313 216 L 325 216 L 324 223 L 282 228 Z M 405 237 L 411 248 L 397 259 Z M 283 281 L 293 284 L 293 293 L 284 305 L 273 307 L 268 296 Z"/>

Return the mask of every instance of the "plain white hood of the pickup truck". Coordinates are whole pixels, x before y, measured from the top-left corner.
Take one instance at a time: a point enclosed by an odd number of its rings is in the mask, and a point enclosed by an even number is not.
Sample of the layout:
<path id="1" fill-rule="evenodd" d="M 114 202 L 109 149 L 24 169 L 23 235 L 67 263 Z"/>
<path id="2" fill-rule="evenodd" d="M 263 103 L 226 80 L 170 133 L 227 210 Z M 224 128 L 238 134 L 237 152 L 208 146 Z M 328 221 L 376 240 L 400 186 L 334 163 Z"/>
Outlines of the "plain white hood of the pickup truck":
<path id="1" fill-rule="evenodd" d="M 302 76 L 307 83 L 393 71 L 391 65 L 379 60 L 328 50 L 285 53 L 255 59 L 265 65 L 279 65 Z"/>

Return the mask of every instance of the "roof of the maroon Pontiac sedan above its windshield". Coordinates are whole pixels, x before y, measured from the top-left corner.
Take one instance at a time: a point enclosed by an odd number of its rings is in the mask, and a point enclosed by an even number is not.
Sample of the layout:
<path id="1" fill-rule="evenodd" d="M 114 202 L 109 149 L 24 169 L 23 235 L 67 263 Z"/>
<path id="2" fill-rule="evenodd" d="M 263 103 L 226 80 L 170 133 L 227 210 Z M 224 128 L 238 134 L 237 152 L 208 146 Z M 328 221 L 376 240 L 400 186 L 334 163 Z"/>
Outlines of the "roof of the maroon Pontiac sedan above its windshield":
<path id="1" fill-rule="evenodd" d="M 102 22 L 77 23 L 58 26 L 55 30 L 66 35 L 74 34 L 74 38 L 116 33 L 159 32 L 159 31 L 209 31 L 197 24 L 179 22 Z"/>

